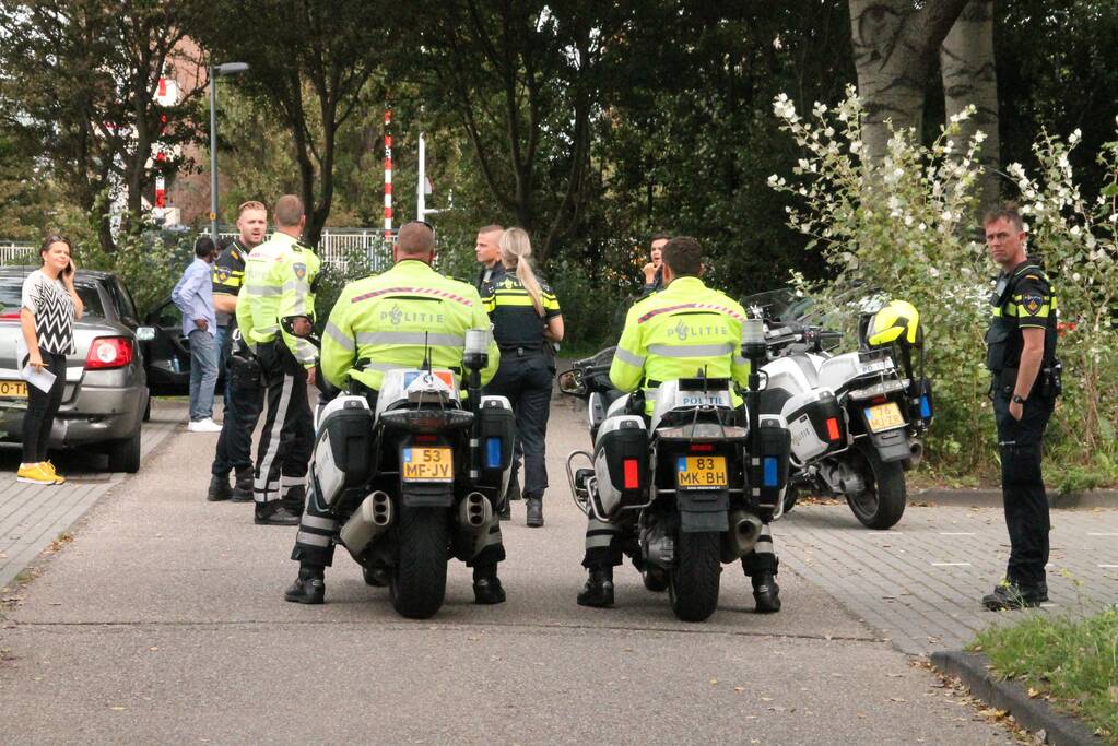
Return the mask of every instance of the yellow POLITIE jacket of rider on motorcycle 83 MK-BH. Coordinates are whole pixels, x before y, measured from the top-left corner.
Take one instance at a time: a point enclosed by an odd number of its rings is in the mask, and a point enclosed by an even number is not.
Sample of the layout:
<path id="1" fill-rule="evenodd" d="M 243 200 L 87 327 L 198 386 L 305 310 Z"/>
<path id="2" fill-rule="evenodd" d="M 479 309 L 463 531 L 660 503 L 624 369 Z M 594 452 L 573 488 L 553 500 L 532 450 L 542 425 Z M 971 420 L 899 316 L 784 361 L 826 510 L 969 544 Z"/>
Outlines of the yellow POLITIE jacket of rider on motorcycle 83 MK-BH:
<path id="1" fill-rule="evenodd" d="M 732 377 L 746 386 L 745 321 L 746 312 L 724 293 L 712 290 L 698 277 L 678 277 L 629 308 L 609 380 L 622 391 L 635 391 L 642 384 L 655 389 L 664 381 L 697 375 Z M 740 403 L 737 394 L 735 401 Z M 652 402 L 650 396 L 650 412 Z"/>

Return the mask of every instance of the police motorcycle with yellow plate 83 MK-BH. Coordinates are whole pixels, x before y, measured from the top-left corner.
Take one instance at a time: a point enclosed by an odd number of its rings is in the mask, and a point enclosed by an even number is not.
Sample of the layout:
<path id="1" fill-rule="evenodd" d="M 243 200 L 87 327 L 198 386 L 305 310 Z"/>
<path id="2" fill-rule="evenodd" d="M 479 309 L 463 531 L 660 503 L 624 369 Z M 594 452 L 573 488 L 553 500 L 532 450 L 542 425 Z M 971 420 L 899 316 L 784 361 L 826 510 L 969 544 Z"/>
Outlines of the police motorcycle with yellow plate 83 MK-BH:
<path id="1" fill-rule="evenodd" d="M 571 495 L 584 514 L 605 523 L 635 513 L 637 537 L 625 551 L 645 587 L 666 587 L 675 616 L 701 622 L 718 606 L 721 565 L 752 551 L 762 522 L 780 516 L 788 431 L 779 414 L 759 413 L 756 374 L 742 411 L 732 403 L 733 381 L 702 370 L 662 382 L 648 420 L 643 395 L 613 388 L 614 351 L 577 361 L 559 376 L 563 393 L 587 401 L 594 443 L 593 452 L 567 459 Z M 751 354 L 758 362 L 765 355 L 759 323 Z M 577 462 L 588 467 L 576 469 Z"/>

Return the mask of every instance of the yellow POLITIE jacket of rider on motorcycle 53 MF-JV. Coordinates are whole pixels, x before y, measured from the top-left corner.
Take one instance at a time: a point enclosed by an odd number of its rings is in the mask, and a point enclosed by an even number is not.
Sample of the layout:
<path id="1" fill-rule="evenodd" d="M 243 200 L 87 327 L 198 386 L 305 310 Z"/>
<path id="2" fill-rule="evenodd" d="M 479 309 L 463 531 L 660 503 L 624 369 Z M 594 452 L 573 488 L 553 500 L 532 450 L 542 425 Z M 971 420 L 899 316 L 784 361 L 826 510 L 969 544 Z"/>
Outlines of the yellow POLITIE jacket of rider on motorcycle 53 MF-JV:
<path id="1" fill-rule="evenodd" d="M 352 377 L 379 391 L 387 371 L 419 367 L 426 348 L 432 367 L 455 371 L 461 383 L 466 331 L 487 328 L 489 316 L 473 286 L 405 259 L 342 290 L 322 335 L 322 373 L 339 389 Z M 493 377 L 500 360 L 491 341 L 482 384 Z"/>

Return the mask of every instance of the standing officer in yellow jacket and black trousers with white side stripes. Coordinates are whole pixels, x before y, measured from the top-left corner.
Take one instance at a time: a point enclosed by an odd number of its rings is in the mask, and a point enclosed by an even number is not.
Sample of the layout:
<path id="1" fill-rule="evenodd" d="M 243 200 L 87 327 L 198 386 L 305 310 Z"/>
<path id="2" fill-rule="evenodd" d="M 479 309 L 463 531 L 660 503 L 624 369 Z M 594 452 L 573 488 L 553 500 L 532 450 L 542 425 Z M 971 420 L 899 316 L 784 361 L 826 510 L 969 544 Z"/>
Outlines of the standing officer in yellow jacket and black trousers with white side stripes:
<path id="1" fill-rule="evenodd" d="M 307 337 L 314 325 L 314 286 L 321 262 L 299 240 L 306 217 L 297 197 L 280 198 L 274 221 L 272 238 L 246 258 L 237 326 L 259 362 L 267 403 L 256 450 L 255 519 L 294 526 L 303 511 L 314 442 L 306 384 L 314 383 L 319 351 Z"/>

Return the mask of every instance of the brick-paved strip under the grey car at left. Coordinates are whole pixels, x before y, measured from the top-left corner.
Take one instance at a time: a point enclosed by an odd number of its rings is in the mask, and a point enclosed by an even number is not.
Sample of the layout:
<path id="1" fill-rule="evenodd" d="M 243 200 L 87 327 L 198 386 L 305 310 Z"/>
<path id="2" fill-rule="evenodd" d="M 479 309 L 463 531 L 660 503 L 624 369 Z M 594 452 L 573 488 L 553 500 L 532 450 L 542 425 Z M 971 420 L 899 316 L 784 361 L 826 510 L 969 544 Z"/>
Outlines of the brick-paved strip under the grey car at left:
<path id="1" fill-rule="evenodd" d="M 143 423 L 140 469 L 186 421 L 186 403 L 155 401 Z M 16 481 L 18 448 L 0 450 L 0 591 L 73 526 L 108 490 L 129 477 L 102 471 L 104 456 L 69 452 L 56 458 L 66 484 L 44 487 Z"/>

